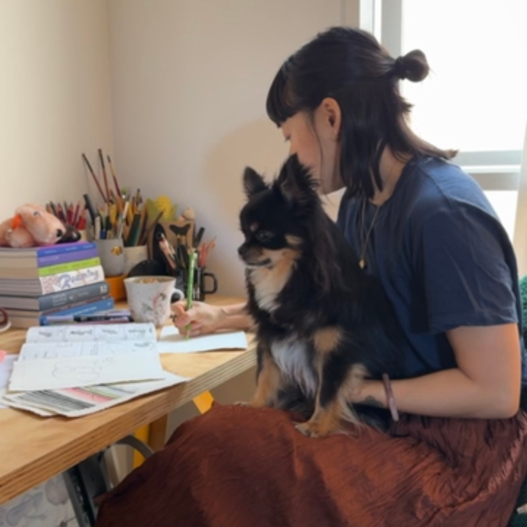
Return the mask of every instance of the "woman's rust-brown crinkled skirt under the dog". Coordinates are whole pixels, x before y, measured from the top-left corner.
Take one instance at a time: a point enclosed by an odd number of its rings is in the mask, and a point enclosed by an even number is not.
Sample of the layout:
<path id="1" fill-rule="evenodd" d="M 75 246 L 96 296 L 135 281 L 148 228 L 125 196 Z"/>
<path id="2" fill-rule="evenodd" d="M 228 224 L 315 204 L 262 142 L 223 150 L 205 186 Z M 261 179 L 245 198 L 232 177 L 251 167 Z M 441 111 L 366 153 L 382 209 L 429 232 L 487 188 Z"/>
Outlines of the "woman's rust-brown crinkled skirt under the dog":
<path id="1" fill-rule="evenodd" d="M 500 527 L 527 415 L 403 416 L 393 436 L 308 438 L 275 409 L 215 405 L 104 500 L 96 527 Z"/>

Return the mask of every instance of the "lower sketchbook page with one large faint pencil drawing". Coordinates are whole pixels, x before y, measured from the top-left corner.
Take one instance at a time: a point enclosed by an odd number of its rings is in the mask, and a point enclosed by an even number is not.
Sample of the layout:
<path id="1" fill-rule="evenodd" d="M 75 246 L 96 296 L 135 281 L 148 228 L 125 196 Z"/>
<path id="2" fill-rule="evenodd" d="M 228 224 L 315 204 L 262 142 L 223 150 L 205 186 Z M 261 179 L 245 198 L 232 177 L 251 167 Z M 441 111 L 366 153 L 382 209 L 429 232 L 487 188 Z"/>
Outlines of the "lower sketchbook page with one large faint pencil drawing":
<path id="1" fill-rule="evenodd" d="M 159 355 L 152 352 L 107 356 L 59 357 L 17 360 L 9 391 L 76 388 L 95 384 L 162 379 Z"/>

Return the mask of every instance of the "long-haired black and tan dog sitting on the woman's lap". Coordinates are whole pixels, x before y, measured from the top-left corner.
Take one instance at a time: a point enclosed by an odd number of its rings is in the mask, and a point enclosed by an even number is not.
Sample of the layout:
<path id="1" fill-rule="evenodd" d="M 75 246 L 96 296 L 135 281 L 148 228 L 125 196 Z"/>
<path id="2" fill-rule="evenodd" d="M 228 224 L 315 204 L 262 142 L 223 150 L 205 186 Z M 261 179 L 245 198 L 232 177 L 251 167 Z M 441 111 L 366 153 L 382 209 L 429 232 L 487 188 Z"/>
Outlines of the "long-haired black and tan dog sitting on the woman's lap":
<path id="1" fill-rule="evenodd" d="M 385 411 L 352 405 L 349 394 L 365 378 L 398 376 L 403 339 L 382 289 L 359 267 L 296 156 L 270 185 L 250 168 L 243 179 L 238 252 L 258 339 L 248 404 L 304 409 L 310 418 L 297 427 L 310 436 L 379 425 Z"/>

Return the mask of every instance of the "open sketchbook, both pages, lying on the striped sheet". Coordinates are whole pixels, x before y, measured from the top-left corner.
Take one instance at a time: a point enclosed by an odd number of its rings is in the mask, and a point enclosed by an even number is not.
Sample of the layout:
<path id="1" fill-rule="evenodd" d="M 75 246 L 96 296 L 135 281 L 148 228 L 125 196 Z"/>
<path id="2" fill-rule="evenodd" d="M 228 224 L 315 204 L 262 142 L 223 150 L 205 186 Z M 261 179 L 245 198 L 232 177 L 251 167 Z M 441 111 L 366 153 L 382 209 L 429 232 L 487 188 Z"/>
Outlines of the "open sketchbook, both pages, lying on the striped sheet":
<path id="1" fill-rule="evenodd" d="M 8 390 L 77 388 L 162 378 L 153 325 L 36 327 L 27 333 Z"/>

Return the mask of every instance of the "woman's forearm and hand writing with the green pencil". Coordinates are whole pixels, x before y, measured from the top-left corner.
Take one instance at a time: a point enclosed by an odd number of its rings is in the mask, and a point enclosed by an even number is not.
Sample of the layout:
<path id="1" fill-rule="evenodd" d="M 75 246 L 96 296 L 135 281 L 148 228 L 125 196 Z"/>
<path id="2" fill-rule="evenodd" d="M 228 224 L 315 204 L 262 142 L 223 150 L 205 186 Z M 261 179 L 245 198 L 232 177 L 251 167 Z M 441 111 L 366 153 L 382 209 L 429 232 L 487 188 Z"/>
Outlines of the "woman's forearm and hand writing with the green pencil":
<path id="1" fill-rule="evenodd" d="M 220 329 L 248 330 L 253 322 L 247 314 L 246 302 L 230 306 L 212 306 L 206 302 L 193 302 L 186 310 L 186 301 L 172 305 L 174 325 L 183 330 L 190 324 L 190 335 L 213 333 Z"/>

